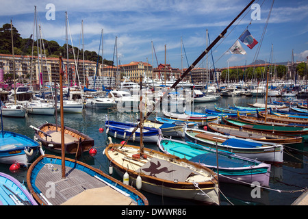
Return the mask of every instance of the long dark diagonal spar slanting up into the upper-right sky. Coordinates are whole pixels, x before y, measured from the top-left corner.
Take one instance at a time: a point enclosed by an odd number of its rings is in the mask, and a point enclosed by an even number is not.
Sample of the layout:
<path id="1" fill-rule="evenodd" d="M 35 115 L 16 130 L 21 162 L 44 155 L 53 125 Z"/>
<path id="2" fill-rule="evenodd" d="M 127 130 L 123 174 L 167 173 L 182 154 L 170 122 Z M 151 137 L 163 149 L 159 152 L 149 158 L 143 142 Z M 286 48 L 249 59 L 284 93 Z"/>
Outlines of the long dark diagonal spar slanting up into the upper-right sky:
<path id="1" fill-rule="evenodd" d="M 192 68 L 194 68 L 194 66 L 196 66 L 196 64 L 198 64 L 198 62 L 200 62 L 200 60 L 203 59 L 203 57 L 205 57 L 205 55 L 219 42 L 219 40 L 221 38 L 224 37 L 225 34 L 227 34 L 228 29 L 231 27 L 231 25 L 233 25 L 233 23 L 235 23 L 236 20 L 238 20 L 238 18 L 244 14 L 244 12 L 253 4 L 255 0 L 252 0 L 250 3 L 248 3 L 248 5 L 242 10 L 242 12 L 240 12 L 240 14 L 238 14 L 238 16 L 236 16 L 233 21 L 231 21 L 231 23 L 221 32 L 221 34 L 219 34 L 217 36 L 217 38 L 211 43 L 209 44 L 209 47 L 207 47 L 207 49 L 205 49 L 205 51 L 203 51 L 203 53 L 201 53 L 201 55 L 199 55 L 199 57 L 197 57 L 197 59 L 192 63 L 192 65 L 190 65 L 185 72 L 183 73 L 183 75 L 181 75 L 181 77 L 179 77 L 179 79 L 177 79 L 177 81 L 175 81 L 175 83 L 173 83 L 173 85 L 170 87 L 169 90 L 167 90 L 167 92 L 165 92 L 165 94 L 163 96 L 160 97 L 159 101 L 157 101 L 155 103 L 155 105 L 153 106 L 153 110 L 150 110 L 149 112 L 146 113 L 146 115 L 144 116 L 144 118 L 142 118 L 142 120 L 140 120 L 140 123 L 138 123 L 136 125 L 136 127 L 133 129 L 133 131 L 131 132 L 131 136 L 133 135 L 133 133 L 136 132 L 136 130 L 138 129 L 139 125 L 141 123 L 143 123 L 144 120 L 146 120 L 146 118 L 149 118 L 149 116 L 152 114 L 152 112 L 155 112 L 155 108 L 160 106 L 160 103 L 162 103 L 163 99 L 166 99 L 166 96 L 173 90 L 176 88 L 176 86 L 179 84 L 179 82 L 181 82 L 181 80 L 188 75 L 188 73 L 190 73 L 190 70 L 192 70 Z M 131 138 L 131 136 L 129 136 L 129 138 Z M 125 140 L 125 142 L 123 142 L 123 145 L 121 147 L 123 147 L 125 144 L 127 144 L 127 141 L 129 140 L 129 138 L 127 138 L 127 140 Z"/>

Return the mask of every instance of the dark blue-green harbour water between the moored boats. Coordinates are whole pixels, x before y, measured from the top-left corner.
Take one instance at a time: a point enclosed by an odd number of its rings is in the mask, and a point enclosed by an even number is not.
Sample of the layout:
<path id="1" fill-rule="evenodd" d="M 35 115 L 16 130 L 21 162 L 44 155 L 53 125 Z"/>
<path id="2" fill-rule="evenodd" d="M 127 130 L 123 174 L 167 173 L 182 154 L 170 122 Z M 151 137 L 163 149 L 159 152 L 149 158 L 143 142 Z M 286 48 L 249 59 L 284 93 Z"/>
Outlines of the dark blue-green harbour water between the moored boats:
<path id="1" fill-rule="evenodd" d="M 277 98 L 278 100 L 278 98 Z M 195 112 L 205 112 L 205 107 L 214 110 L 214 105 L 218 107 L 228 107 L 228 105 L 247 106 L 247 103 L 255 103 L 255 97 L 248 96 L 222 96 L 220 100 L 210 103 L 194 104 Z M 264 98 L 259 97 L 257 103 L 264 103 Z M 105 115 L 109 120 L 117 120 L 120 122 L 136 121 L 136 113 L 118 112 L 116 110 L 95 110 L 86 108 L 82 114 L 64 114 L 64 125 L 77 129 L 94 139 L 94 147 L 97 149 L 97 155 L 90 156 L 84 153 L 79 160 L 90 164 L 95 168 L 108 173 L 109 162 L 107 157 L 103 155 L 103 150 L 107 145 L 107 134 L 105 130 Z M 155 113 L 157 116 L 163 116 L 162 112 Z M 153 113 L 150 118 L 155 116 Z M 29 126 L 39 127 L 43 123 L 55 123 L 55 116 L 38 116 L 27 115 L 26 118 L 3 118 L 3 129 L 5 131 L 14 131 L 21 133 L 29 138 L 34 138 L 34 130 Z M 60 115 L 58 115 L 57 123 L 60 124 Z M 100 132 L 99 129 L 104 131 Z M 200 127 L 203 129 L 203 127 Z M 112 138 L 113 142 L 121 142 L 120 139 Z M 129 144 L 138 145 L 139 142 L 129 142 Z M 158 150 L 156 144 L 146 143 L 144 146 Z M 51 153 L 44 149 L 45 153 Z M 296 147 L 285 146 L 283 164 L 272 164 L 270 172 L 269 188 L 255 188 L 252 185 L 238 185 L 220 183 L 220 201 L 221 205 L 292 205 L 296 198 L 303 194 L 303 190 L 308 185 L 308 144 L 301 143 Z M 10 165 L 0 164 L 0 171 L 12 175 L 18 181 L 26 183 L 27 170 L 18 170 L 18 172 L 10 172 Z M 113 177 L 120 179 L 114 172 Z M 176 198 L 168 198 L 158 196 L 141 191 L 149 200 L 149 205 L 200 205 L 193 201 L 180 200 Z"/>

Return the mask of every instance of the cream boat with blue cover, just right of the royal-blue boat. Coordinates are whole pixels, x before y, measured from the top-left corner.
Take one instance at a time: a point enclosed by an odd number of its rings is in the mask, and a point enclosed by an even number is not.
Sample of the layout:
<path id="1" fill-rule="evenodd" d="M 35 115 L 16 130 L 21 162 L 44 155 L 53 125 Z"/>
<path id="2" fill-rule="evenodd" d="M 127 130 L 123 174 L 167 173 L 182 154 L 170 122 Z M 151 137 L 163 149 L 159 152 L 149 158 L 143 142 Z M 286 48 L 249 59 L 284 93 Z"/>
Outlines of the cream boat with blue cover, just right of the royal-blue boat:
<path id="1" fill-rule="evenodd" d="M 143 126 L 160 129 L 163 136 L 184 137 L 184 124 L 176 125 L 172 123 L 162 123 L 155 120 L 145 120 Z"/>

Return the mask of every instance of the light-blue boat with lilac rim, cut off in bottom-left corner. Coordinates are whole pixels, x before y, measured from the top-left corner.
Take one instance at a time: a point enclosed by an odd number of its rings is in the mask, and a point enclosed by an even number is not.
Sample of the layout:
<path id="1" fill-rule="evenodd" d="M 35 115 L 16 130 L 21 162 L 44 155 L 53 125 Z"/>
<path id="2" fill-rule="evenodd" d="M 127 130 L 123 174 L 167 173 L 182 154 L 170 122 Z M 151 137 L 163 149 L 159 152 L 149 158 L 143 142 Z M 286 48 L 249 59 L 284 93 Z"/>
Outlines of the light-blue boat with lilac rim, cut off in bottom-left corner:
<path id="1" fill-rule="evenodd" d="M 0 205 L 38 205 L 23 183 L 0 172 Z"/>

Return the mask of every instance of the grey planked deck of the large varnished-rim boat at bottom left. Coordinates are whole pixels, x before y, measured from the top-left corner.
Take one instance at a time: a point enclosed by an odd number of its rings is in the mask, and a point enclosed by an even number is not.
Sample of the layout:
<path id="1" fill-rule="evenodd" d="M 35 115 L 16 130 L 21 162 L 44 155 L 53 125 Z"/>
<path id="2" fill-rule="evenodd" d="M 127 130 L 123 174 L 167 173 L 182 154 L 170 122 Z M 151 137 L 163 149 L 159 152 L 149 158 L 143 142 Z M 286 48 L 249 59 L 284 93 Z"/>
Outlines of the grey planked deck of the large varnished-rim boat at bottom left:
<path id="1" fill-rule="evenodd" d="M 53 186 L 55 192 L 53 192 Z M 106 186 L 105 183 L 86 172 L 67 166 L 66 179 L 62 179 L 61 166 L 57 164 L 45 165 L 36 178 L 36 187 L 53 205 L 61 205 L 84 190 L 104 186 Z"/>

